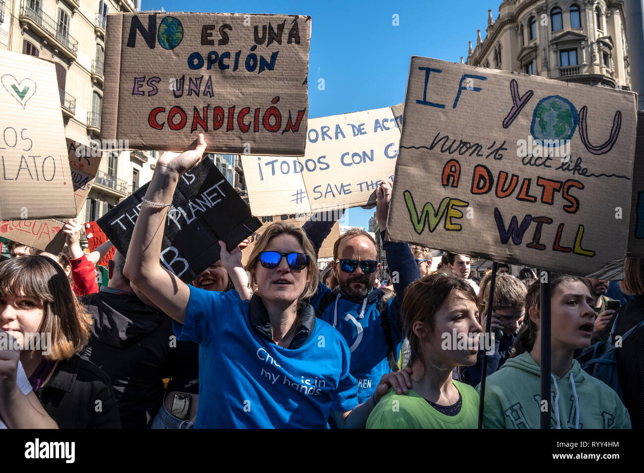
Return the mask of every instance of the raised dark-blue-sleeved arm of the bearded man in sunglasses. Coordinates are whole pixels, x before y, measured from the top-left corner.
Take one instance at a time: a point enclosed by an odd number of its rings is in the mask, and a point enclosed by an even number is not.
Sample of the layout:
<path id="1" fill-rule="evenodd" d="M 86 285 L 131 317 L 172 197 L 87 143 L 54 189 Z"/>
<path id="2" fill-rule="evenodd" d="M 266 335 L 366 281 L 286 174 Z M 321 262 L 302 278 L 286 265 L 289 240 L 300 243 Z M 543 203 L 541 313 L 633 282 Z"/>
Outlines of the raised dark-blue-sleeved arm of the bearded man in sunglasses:
<path id="1" fill-rule="evenodd" d="M 376 192 L 375 216 L 380 227 L 380 237 L 383 241 L 383 250 L 392 277 L 393 290 L 396 295 L 389 307 L 389 317 L 395 328 L 402 331 L 400 321 L 401 305 L 403 304 L 404 290 L 406 287 L 421 278 L 421 270 L 413 259 L 412 250 L 406 243 L 393 243 L 385 239 L 389 205 L 392 201 L 392 181 L 383 181 Z"/>

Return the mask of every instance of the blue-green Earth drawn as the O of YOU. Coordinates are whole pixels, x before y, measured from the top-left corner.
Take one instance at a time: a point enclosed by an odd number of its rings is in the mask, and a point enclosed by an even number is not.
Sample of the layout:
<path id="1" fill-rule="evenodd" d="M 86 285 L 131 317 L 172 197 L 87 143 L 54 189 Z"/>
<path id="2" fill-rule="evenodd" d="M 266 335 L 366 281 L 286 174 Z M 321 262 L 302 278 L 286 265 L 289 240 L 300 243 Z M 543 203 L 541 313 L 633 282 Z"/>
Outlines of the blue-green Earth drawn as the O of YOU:
<path id="1" fill-rule="evenodd" d="M 530 133 L 537 140 L 570 140 L 578 123 L 579 114 L 574 105 L 564 97 L 551 95 L 536 104 Z"/>

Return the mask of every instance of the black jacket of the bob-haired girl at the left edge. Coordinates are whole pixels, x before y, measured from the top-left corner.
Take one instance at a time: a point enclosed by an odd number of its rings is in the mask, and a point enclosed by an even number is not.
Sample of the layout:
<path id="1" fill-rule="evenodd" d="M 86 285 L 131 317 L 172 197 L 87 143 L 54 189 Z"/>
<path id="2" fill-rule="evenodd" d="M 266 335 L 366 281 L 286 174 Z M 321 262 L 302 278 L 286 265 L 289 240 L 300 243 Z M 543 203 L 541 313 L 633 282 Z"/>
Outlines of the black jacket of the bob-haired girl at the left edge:
<path id="1" fill-rule="evenodd" d="M 59 362 L 35 394 L 59 429 L 120 429 L 109 377 L 77 354 Z"/>

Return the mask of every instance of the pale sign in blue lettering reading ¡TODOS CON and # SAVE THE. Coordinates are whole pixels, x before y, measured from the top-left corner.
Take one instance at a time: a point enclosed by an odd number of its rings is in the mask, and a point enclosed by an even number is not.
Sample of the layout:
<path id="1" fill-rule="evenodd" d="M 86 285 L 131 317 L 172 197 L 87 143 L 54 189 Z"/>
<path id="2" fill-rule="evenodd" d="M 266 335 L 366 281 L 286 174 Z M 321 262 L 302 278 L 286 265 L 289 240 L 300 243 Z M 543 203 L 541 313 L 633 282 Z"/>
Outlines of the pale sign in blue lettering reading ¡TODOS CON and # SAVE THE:
<path id="1" fill-rule="evenodd" d="M 392 107 L 310 118 L 303 157 L 242 156 L 252 214 L 374 204 L 381 179 L 393 179 L 399 140 Z"/>

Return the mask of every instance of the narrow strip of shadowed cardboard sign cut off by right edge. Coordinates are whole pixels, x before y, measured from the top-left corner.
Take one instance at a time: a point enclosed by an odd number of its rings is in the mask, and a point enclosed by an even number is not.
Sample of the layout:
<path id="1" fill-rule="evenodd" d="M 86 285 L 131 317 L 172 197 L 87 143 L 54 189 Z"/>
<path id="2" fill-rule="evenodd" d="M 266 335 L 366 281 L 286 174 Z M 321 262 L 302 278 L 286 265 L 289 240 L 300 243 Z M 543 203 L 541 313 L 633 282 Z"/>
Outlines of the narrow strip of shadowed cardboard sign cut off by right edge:
<path id="1" fill-rule="evenodd" d="M 633 165 L 633 192 L 630 201 L 628 256 L 644 257 L 644 111 L 638 111 L 638 136 Z"/>

